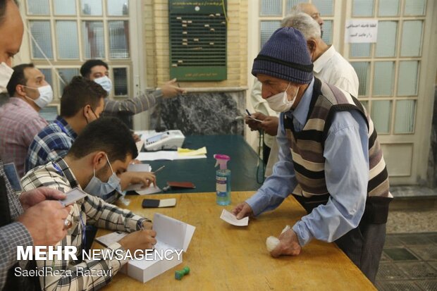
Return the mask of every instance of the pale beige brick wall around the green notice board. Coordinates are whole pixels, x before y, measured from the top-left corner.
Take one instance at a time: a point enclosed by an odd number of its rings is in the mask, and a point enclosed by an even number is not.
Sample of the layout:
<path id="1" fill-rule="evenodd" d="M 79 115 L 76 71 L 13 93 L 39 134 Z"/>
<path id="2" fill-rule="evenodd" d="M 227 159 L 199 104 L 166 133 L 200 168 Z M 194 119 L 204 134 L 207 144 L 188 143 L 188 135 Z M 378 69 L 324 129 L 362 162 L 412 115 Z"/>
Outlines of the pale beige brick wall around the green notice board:
<path id="1" fill-rule="evenodd" d="M 248 0 L 228 0 L 228 80 L 181 82 L 181 86 L 188 88 L 247 86 L 247 6 Z M 153 87 L 170 78 L 168 0 L 146 0 L 142 9 L 146 54 L 144 66 L 147 68 L 147 86 Z"/>

